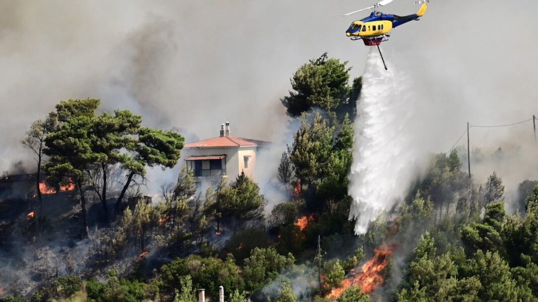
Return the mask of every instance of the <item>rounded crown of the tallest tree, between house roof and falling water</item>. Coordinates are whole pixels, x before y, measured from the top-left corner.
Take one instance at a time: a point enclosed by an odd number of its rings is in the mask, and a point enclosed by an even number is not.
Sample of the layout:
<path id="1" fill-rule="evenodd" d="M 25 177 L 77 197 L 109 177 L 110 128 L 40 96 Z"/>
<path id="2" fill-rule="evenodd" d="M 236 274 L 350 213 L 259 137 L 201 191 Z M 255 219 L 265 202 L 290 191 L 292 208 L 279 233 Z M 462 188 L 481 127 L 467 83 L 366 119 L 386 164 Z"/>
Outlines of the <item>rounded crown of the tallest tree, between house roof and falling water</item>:
<path id="1" fill-rule="evenodd" d="M 282 99 L 288 114 L 299 116 L 313 107 L 334 111 L 345 102 L 350 91 L 347 63 L 329 59 L 325 53 L 302 65 L 291 79 L 294 91 Z"/>

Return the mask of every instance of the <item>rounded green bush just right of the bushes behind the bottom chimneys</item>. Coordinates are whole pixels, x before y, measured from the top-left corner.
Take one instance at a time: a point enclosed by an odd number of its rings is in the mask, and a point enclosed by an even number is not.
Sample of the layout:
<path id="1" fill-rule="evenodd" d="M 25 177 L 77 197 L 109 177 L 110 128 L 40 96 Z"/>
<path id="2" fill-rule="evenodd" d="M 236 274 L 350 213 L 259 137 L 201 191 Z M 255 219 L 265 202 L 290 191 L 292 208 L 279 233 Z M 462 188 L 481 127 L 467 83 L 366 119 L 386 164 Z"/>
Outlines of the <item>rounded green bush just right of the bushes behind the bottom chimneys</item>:
<path id="1" fill-rule="evenodd" d="M 292 254 L 279 255 L 273 247 L 252 249 L 243 268 L 246 288 L 254 292 L 262 289 L 294 262 Z"/>

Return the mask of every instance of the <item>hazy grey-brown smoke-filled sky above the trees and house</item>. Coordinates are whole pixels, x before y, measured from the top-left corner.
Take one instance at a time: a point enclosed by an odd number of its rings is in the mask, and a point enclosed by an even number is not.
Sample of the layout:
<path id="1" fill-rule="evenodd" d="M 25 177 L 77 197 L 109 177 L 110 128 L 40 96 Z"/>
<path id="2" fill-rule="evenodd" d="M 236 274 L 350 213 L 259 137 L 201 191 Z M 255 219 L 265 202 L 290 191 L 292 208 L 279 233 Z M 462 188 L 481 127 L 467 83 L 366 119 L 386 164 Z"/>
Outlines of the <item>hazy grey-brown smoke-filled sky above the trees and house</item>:
<path id="1" fill-rule="evenodd" d="M 0 1 L 0 170 L 31 158 L 18 143 L 60 100 L 100 98 L 150 126 L 200 138 L 276 140 L 287 117 L 279 99 L 292 73 L 328 51 L 353 77 L 369 49 L 345 30 L 361 1 Z M 396 28 L 382 48 L 420 96 L 424 148 L 447 151 L 465 122 L 507 123 L 538 114 L 538 3 L 432 0 L 422 20 Z M 384 12 L 419 9 L 395 0 Z M 517 16 L 517 18 L 514 18 Z M 484 144 L 532 137 L 532 129 L 476 132 Z M 517 133 L 514 134 L 514 131 Z M 479 143 L 477 141 L 477 143 Z M 495 143 L 492 143 L 495 144 Z M 31 163 L 31 161 L 30 161 Z"/>

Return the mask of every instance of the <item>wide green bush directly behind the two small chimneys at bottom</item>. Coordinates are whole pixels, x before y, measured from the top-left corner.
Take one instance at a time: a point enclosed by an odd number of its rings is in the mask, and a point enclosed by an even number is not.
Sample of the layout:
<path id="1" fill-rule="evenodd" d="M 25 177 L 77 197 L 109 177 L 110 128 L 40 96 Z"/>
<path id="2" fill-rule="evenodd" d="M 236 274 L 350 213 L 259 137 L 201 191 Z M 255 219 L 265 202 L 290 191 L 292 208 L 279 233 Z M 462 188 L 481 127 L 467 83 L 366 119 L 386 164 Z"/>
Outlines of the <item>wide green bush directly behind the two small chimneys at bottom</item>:
<path id="1" fill-rule="evenodd" d="M 187 275 L 192 277 L 194 288 L 207 289 L 211 297 L 218 297 L 218 286 L 221 285 L 225 289 L 244 289 L 239 267 L 233 257 L 222 261 L 197 255 L 189 255 L 162 266 L 157 276 L 157 285 L 161 289 L 170 290 L 175 284 L 180 284 L 181 277 Z"/>

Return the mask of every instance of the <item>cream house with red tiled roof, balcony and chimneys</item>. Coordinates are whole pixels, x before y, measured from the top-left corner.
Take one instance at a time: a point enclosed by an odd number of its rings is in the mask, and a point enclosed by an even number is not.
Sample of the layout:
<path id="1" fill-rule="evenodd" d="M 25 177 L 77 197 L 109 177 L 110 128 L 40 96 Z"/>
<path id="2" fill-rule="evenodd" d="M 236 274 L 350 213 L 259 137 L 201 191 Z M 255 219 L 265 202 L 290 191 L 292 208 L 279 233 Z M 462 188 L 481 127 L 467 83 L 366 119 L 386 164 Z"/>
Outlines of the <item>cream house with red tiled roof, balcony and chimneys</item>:
<path id="1" fill-rule="evenodd" d="M 217 187 L 221 178 L 230 182 L 241 172 L 255 178 L 256 158 L 260 149 L 270 142 L 231 136 L 230 123 L 221 125 L 220 136 L 188 143 L 183 147 L 182 158 L 193 170 L 199 191 L 210 185 Z"/>

